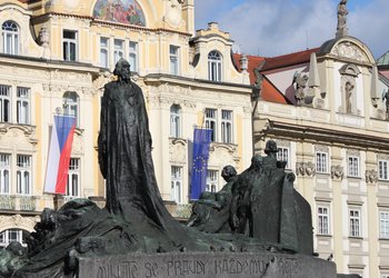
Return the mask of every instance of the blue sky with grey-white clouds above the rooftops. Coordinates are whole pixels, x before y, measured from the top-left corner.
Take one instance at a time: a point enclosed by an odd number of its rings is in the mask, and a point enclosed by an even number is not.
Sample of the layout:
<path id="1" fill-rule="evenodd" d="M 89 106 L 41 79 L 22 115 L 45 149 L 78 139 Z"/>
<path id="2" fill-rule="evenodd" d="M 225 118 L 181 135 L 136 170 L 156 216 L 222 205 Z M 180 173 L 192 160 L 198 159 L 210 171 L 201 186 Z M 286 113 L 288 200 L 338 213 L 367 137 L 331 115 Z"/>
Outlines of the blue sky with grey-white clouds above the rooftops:
<path id="1" fill-rule="evenodd" d="M 194 0 L 196 29 L 218 22 L 233 51 L 275 57 L 333 39 L 339 0 Z M 389 0 L 348 0 L 349 36 L 375 58 L 389 50 Z"/>

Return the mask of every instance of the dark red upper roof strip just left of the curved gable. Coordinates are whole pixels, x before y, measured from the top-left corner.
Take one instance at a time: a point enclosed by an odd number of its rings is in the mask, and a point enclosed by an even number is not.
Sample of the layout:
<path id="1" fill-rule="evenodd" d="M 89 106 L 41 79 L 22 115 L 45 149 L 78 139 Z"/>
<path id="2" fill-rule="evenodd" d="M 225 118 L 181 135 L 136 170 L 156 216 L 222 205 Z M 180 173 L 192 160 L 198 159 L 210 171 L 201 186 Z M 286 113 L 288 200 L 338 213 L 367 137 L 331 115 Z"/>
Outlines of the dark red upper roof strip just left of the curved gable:
<path id="1" fill-rule="evenodd" d="M 319 48 L 312 48 L 295 53 L 266 58 L 266 63 L 261 71 L 287 68 L 290 66 L 309 62 L 312 52 L 318 52 Z"/>

